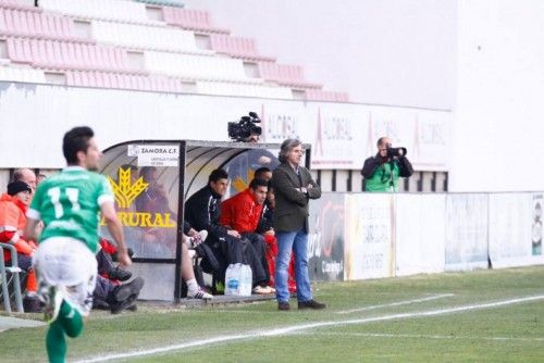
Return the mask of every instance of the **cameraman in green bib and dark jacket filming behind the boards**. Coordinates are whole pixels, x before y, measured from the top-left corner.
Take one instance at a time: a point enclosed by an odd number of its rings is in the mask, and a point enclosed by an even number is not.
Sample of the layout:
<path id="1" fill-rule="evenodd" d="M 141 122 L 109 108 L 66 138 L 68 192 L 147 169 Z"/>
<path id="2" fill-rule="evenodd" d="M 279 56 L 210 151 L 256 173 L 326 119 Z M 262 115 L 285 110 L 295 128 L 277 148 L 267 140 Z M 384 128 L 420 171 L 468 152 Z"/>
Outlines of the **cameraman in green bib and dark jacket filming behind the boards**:
<path id="1" fill-rule="evenodd" d="M 367 191 L 398 191 L 398 177 L 413 173 L 405 148 L 392 148 L 387 137 L 378 140 L 378 154 L 364 161 L 361 174 Z"/>

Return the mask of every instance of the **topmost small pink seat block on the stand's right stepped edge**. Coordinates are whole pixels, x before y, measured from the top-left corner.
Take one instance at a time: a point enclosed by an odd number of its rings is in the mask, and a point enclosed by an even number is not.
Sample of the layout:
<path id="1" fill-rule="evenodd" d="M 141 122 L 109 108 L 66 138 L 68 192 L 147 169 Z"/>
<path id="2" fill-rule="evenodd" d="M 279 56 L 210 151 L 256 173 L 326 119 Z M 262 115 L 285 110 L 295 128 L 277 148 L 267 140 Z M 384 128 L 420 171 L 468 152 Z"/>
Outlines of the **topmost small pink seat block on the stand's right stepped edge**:
<path id="1" fill-rule="evenodd" d="M 162 7 L 162 16 L 168 24 L 184 29 L 203 33 L 228 33 L 226 29 L 213 27 L 211 25 L 210 14 L 201 10 Z"/>

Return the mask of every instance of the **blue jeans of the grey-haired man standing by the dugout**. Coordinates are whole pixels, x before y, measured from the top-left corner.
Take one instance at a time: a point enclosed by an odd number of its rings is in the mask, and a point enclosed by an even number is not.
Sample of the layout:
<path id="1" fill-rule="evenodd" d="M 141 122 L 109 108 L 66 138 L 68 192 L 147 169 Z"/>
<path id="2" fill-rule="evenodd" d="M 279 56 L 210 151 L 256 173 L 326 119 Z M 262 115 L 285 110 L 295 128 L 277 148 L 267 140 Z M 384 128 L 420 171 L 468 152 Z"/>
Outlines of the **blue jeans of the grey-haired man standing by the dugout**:
<path id="1" fill-rule="evenodd" d="M 289 301 L 287 286 L 287 266 L 290 251 L 295 252 L 295 278 L 297 280 L 297 300 L 299 302 L 312 299 L 310 277 L 308 276 L 308 234 L 298 231 L 277 231 L 277 258 L 275 261 L 275 296 L 279 302 Z"/>

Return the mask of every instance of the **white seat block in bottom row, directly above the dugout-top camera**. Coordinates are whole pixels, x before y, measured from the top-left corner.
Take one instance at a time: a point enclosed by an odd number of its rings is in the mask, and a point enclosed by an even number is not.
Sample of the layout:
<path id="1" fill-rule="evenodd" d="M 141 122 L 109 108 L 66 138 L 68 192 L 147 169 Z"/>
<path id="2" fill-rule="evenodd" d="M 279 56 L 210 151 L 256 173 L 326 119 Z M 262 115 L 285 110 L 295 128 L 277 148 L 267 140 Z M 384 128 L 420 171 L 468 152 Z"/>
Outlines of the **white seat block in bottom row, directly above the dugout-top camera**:
<path id="1" fill-rule="evenodd" d="M 290 88 L 265 85 L 245 85 L 222 82 L 197 82 L 197 92 L 218 96 L 259 97 L 270 99 L 293 99 Z"/>

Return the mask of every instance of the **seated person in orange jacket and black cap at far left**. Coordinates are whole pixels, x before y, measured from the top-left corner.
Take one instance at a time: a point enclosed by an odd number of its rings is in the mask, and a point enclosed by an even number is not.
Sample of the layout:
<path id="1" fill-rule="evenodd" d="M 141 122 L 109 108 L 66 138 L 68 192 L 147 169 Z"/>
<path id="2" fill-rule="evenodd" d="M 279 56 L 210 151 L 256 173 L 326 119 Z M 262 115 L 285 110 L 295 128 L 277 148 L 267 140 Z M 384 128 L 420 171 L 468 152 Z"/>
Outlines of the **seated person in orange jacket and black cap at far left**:
<path id="1" fill-rule="evenodd" d="M 27 274 L 26 295 L 23 299 L 25 312 L 39 312 L 41 309 L 36 293 L 36 274 L 32 266 L 33 255 L 38 247 L 23 236 L 30 196 L 32 188 L 28 184 L 20 180 L 8 184 L 8 193 L 0 197 L 0 242 L 15 247 L 18 267 Z M 4 251 L 4 261 L 8 265 L 11 264 L 9 251 Z"/>

